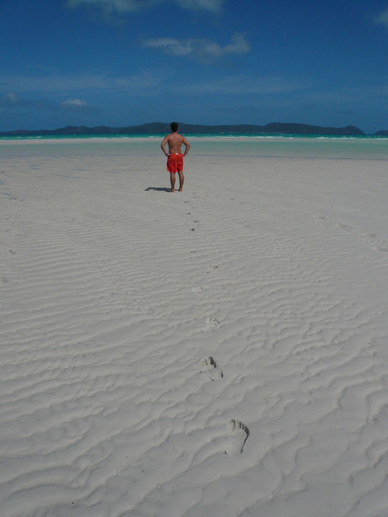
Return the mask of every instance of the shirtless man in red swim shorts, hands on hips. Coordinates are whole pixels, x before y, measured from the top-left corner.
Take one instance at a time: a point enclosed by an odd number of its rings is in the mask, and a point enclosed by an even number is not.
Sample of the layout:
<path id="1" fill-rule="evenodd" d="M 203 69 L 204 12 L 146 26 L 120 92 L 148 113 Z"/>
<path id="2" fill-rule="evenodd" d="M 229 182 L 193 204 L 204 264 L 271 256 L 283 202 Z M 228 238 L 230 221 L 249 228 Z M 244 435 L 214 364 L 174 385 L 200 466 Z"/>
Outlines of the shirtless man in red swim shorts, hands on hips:
<path id="1" fill-rule="evenodd" d="M 170 192 L 175 192 L 175 174 L 178 173 L 179 176 L 179 188 L 178 192 L 182 192 L 183 182 L 185 177 L 183 176 L 183 157 L 187 155 L 190 149 L 190 144 L 187 142 L 185 137 L 181 134 L 178 134 L 178 124 L 176 122 L 172 122 L 170 124 L 171 134 L 168 134 L 163 139 L 163 142 L 160 144 L 163 153 L 167 156 L 167 170 L 170 173 L 170 181 L 171 181 L 171 190 Z M 165 145 L 169 145 L 169 151 L 166 152 Z M 185 146 L 185 152 L 182 155 L 181 147 L 182 144 Z"/>

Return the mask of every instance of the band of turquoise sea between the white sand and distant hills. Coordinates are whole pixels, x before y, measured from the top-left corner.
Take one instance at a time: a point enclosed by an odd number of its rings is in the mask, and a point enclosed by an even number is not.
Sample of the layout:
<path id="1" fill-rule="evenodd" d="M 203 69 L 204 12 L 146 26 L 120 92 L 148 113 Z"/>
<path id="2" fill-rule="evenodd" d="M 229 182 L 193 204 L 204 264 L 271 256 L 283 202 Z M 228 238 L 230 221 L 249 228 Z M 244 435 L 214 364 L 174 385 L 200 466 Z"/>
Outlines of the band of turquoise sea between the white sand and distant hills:
<path id="1" fill-rule="evenodd" d="M 0 136 L 1 156 L 154 156 L 164 134 Z M 388 137 L 292 134 L 186 134 L 190 157 L 388 160 Z"/>

